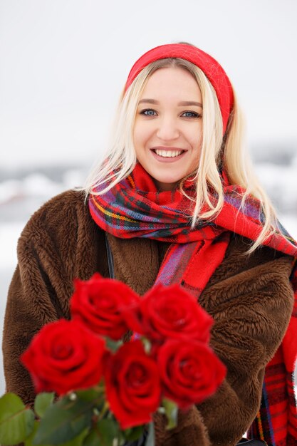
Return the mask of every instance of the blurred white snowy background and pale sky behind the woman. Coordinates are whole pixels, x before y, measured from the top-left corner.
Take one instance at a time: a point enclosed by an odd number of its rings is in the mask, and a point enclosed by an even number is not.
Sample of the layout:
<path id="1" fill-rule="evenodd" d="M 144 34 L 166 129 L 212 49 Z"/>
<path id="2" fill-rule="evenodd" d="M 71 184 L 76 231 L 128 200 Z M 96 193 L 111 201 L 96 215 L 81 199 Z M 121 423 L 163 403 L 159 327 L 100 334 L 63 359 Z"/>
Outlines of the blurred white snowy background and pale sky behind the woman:
<path id="1" fill-rule="evenodd" d="M 132 63 L 162 43 L 221 61 L 261 182 L 297 238 L 296 16 L 295 0 L 0 0 L 0 330 L 21 229 L 83 184 Z"/>

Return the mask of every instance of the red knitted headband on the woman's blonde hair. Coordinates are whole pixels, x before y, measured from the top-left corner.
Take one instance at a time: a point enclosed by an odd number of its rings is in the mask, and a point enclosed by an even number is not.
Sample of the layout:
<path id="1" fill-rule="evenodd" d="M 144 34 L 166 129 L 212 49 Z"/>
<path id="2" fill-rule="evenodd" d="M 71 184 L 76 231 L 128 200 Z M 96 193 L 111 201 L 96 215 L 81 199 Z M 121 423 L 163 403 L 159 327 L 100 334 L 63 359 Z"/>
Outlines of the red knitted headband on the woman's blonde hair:
<path id="1" fill-rule="evenodd" d="M 187 45 L 187 43 L 173 43 L 157 46 L 156 48 L 147 51 L 147 53 L 143 54 L 132 66 L 127 78 L 125 90 L 130 87 L 136 76 L 138 76 L 140 71 L 149 65 L 149 63 L 166 58 L 185 59 L 186 61 L 194 63 L 194 65 L 204 72 L 217 93 L 225 133 L 229 115 L 234 103 L 232 86 L 222 66 L 220 66 L 212 56 L 199 50 L 196 46 Z"/>

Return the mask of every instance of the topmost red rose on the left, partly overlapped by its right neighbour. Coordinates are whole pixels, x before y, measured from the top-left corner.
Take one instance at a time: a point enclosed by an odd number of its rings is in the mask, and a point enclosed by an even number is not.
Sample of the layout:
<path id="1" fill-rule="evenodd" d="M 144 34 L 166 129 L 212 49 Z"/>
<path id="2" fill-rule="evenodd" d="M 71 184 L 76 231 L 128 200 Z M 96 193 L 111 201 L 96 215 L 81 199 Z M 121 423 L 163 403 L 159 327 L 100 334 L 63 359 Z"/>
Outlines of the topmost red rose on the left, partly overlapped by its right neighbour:
<path id="1" fill-rule="evenodd" d="M 118 340 L 129 330 L 123 312 L 139 300 L 129 286 L 94 274 L 88 281 L 75 280 L 71 314 L 94 333 Z"/>

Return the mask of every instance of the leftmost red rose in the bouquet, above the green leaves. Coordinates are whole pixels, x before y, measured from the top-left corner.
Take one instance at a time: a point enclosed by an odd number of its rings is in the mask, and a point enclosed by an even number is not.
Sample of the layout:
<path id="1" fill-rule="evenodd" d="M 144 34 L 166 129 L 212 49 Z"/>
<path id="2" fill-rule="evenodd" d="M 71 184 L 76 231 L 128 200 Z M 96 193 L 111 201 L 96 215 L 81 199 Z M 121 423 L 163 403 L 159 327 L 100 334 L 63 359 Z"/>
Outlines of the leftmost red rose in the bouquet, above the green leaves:
<path id="1" fill-rule="evenodd" d="M 88 388 L 103 374 L 105 341 L 80 321 L 61 319 L 48 323 L 33 337 L 21 356 L 31 373 L 36 393 Z"/>

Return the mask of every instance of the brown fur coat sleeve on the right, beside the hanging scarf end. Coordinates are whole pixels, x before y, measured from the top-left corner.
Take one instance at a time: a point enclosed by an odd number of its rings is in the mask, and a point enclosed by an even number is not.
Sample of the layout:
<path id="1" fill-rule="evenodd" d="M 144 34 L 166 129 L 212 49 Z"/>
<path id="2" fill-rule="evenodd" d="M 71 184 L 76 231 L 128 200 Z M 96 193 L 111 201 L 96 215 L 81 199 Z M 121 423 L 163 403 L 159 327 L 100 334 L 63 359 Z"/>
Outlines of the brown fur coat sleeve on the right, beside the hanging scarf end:
<path id="1" fill-rule="evenodd" d="M 282 256 L 235 276 L 223 270 L 201 299 L 215 321 L 212 348 L 227 368 L 217 393 L 197 408 L 212 445 L 235 445 L 256 417 L 266 365 L 293 309 L 291 264 Z"/>

